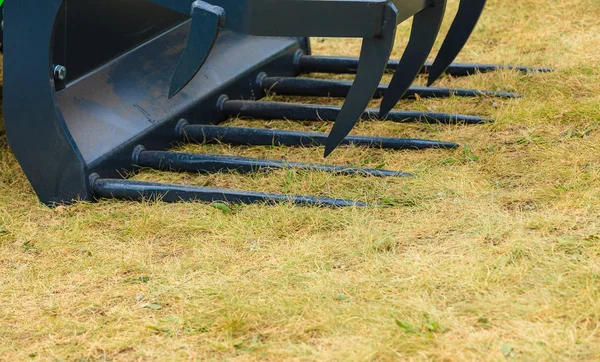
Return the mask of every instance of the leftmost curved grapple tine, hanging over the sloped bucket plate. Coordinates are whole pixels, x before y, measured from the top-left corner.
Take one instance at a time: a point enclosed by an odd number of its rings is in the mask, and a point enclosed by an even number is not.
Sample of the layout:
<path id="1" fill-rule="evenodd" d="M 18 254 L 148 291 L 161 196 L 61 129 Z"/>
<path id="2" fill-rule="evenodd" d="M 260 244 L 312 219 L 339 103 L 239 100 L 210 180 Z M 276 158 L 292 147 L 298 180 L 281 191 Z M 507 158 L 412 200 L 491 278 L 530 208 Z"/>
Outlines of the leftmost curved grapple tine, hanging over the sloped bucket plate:
<path id="1" fill-rule="evenodd" d="M 171 79 L 169 99 L 181 92 L 202 68 L 217 41 L 219 28 L 224 25 L 224 22 L 223 8 L 204 1 L 193 3 L 190 33 Z"/>

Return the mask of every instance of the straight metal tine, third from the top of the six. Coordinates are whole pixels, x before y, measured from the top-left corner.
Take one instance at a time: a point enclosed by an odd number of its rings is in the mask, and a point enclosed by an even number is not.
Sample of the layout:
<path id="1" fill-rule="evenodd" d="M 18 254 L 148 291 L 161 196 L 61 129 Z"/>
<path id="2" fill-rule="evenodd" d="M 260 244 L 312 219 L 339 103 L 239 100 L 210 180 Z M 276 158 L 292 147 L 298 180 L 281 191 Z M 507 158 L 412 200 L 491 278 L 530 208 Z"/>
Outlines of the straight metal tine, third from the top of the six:
<path id="1" fill-rule="evenodd" d="M 221 114 L 229 117 L 251 117 L 257 119 L 286 119 L 290 121 L 334 121 L 341 108 L 317 104 L 297 104 L 285 102 L 231 101 L 222 102 Z M 363 120 L 378 119 L 379 110 L 367 109 Z M 449 113 L 391 111 L 386 121 L 423 122 L 444 124 L 485 124 L 494 122 L 491 118 Z"/>

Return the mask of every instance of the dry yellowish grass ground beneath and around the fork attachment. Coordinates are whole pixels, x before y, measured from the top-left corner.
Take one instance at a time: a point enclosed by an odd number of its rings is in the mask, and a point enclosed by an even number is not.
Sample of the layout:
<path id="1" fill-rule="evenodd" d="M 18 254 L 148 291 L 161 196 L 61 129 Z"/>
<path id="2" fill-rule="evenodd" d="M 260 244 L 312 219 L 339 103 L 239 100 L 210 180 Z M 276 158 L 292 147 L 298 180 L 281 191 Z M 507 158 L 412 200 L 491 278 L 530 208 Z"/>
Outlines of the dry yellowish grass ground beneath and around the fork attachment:
<path id="1" fill-rule="evenodd" d="M 494 124 L 363 122 L 355 130 L 460 149 L 345 148 L 329 160 L 412 179 L 136 176 L 387 207 L 101 201 L 50 209 L 0 131 L 0 359 L 600 360 L 599 19 L 598 0 L 490 0 L 459 61 L 557 72 L 439 83 L 523 99 L 398 106 Z M 396 57 L 408 30 L 400 28 Z M 353 40 L 313 44 L 319 54 L 359 49 Z M 185 149 L 322 161 L 321 149 Z"/>

